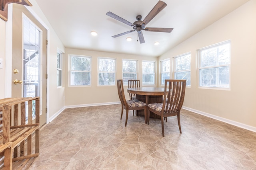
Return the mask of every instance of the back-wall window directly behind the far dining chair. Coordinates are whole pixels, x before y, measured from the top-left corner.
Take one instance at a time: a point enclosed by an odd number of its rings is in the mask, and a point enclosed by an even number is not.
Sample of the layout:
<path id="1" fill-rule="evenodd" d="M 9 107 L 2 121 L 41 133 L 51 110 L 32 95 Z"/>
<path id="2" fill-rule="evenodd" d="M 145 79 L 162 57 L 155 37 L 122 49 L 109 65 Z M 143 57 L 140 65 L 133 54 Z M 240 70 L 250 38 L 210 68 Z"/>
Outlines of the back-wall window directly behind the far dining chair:
<path id="1" fill-rule="evenodd" d="M 128 85 L 128 80 L 137 80 L 137 61 L 123 60 L 123 83 Z"/>

